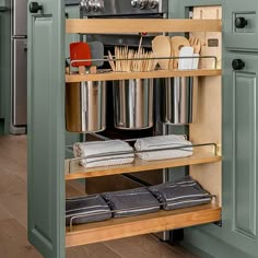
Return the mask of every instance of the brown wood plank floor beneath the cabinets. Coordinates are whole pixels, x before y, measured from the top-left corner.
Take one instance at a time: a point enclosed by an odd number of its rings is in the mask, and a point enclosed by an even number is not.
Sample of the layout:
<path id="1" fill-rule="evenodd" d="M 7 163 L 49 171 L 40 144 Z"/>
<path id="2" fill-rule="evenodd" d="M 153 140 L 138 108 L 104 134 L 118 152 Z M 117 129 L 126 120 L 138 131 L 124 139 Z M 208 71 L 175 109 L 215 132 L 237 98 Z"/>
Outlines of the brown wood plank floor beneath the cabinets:
<path id="1" fill-rule="evenodd" d="M 0 137 L 0 257 L 39 258 L 26 235 L 26 137 Z M 69 195 L 81 191 L 75 181 Z M 197 258 L 180 246 L 161 243 L 153 235 L 129 237 L 67 249 L 68 258 Z"/>

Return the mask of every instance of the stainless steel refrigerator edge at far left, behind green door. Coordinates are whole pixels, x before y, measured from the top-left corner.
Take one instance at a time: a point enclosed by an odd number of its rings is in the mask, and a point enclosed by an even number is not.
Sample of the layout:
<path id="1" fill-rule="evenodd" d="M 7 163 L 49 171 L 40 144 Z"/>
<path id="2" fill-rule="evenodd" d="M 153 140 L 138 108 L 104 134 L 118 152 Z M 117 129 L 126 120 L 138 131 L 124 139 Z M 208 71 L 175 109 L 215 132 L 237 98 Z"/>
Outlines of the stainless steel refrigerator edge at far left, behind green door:
<path id="1" fill-rule="evenodd" d="M 27 0 L 11 1 L 11 128 L 26 132 L 27 124 Z"/>

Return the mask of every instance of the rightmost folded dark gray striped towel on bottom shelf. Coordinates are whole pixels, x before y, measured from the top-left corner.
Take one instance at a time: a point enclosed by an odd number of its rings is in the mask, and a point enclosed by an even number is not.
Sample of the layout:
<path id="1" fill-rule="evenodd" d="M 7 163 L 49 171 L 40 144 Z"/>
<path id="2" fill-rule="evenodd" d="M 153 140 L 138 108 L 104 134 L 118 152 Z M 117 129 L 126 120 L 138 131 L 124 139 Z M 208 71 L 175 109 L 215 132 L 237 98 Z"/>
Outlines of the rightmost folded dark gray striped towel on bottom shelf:
<path id="1" fill-rule="evenodd" d="M 211 202 L 211 195 L 190 176 L 173 183 L 149 187 L 164 210 L 174 210 Z"/>

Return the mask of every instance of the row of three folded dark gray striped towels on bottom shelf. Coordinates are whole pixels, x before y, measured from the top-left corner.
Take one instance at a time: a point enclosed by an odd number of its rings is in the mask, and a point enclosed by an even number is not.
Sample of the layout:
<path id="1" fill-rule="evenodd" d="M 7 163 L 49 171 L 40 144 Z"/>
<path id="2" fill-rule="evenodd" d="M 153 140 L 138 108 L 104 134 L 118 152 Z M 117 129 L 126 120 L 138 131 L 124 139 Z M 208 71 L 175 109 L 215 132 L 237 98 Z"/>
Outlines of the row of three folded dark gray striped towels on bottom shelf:
<path id="1" fill-rule="evenodd" d="M 66 223 L 77 225 L 113 218 L 142 215 L 211 202 L 211 195 L 190 176 L 173 183 L 67 199 Z M 72 221 L 71 221 L 72 220 Z"/>

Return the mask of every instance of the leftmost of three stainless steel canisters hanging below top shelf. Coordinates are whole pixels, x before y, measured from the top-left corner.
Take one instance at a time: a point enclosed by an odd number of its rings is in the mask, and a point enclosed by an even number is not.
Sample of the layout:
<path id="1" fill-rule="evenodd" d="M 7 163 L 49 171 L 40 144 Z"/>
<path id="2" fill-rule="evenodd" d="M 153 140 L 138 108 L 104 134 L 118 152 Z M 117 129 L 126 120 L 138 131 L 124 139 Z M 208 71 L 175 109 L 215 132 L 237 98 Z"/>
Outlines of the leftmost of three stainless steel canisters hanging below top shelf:
<path id="1" fill-rule="evenodd" d="M 66 84 L 66 128 L 70 132 L 97 132 L 106 128 L 106 82 Z"/>

